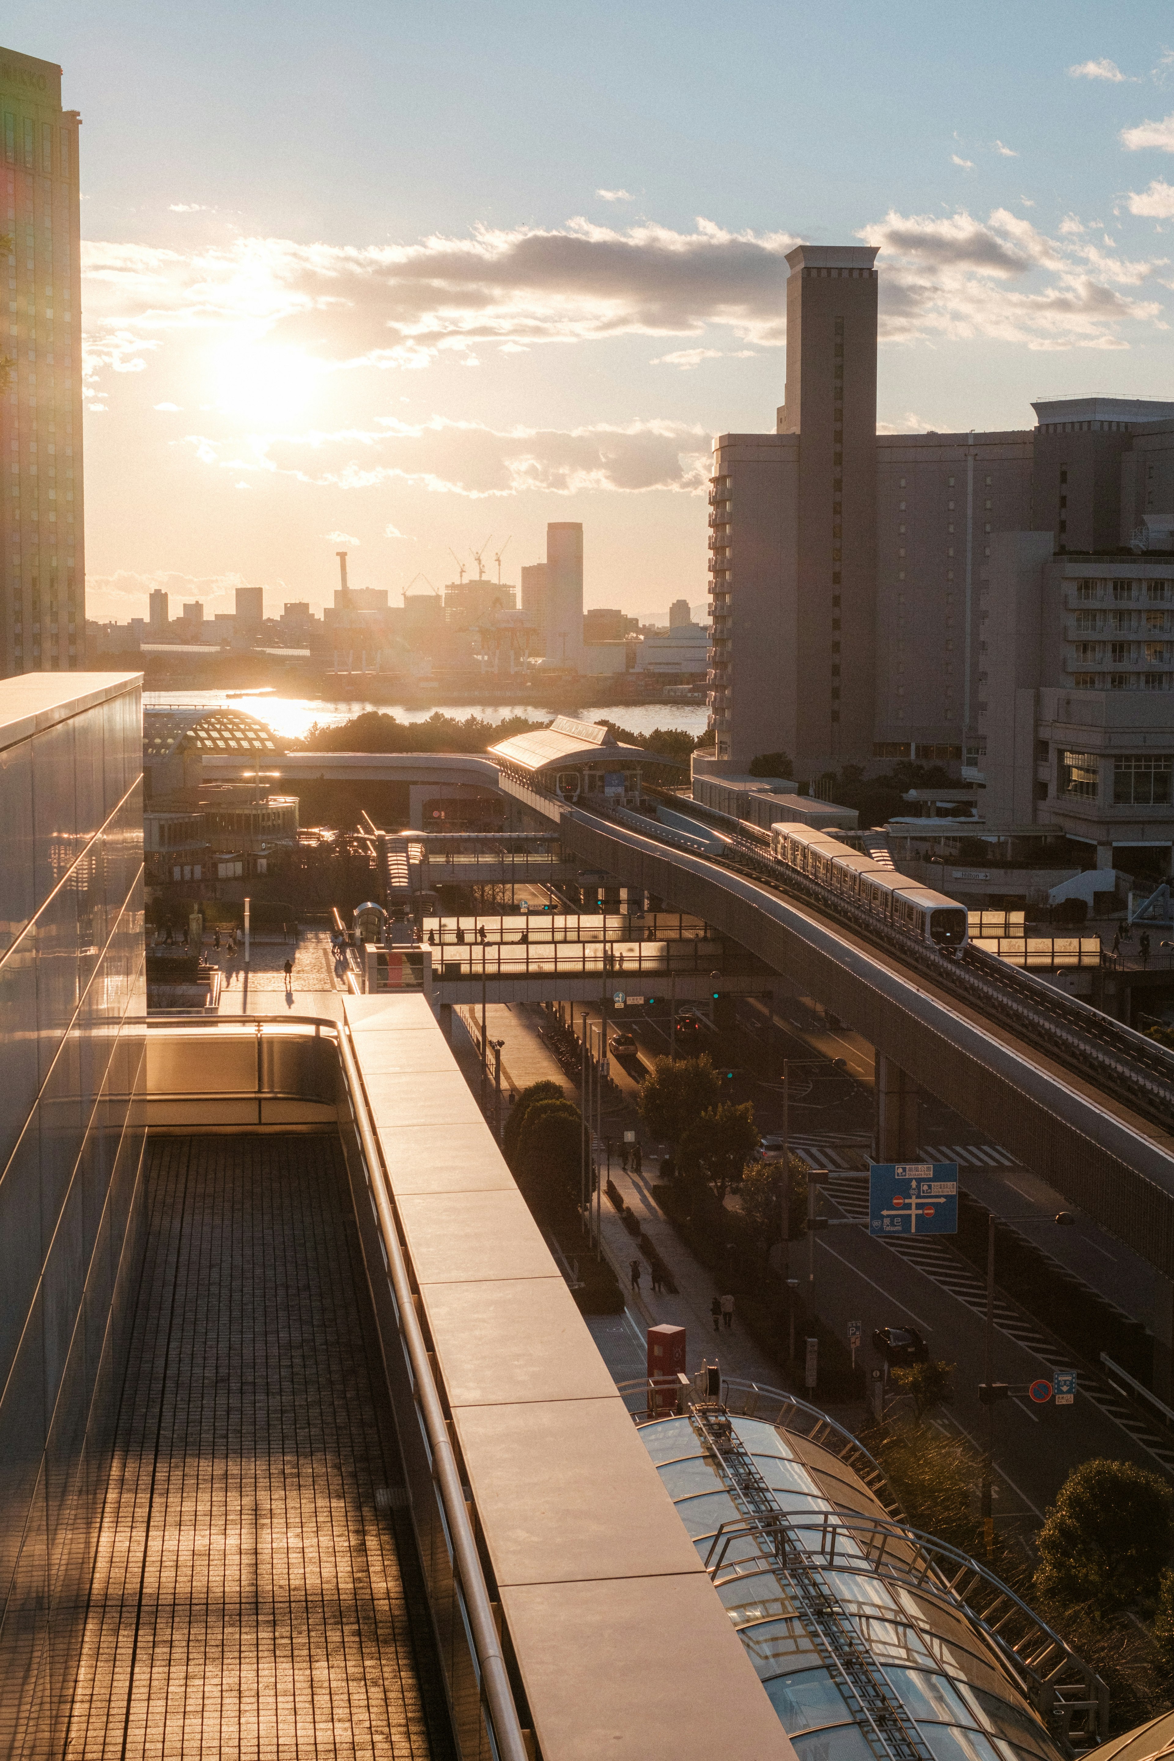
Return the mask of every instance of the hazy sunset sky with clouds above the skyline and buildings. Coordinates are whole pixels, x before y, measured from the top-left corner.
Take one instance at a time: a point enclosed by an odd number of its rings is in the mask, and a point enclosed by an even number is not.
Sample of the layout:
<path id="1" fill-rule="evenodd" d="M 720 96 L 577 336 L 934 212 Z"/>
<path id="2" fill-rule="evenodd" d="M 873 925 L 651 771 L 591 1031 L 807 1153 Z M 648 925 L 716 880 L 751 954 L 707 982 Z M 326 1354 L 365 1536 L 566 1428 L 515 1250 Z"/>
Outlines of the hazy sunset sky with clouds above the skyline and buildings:
<path id="1" fill-rule="evenodd" d="M 1174 12 L 743 0 L 7 0 L 83 116 L 90 615 L 706 590 L 771 431 L 785 252 L 880 248 L 878 424 L 1174 396 Z"/>

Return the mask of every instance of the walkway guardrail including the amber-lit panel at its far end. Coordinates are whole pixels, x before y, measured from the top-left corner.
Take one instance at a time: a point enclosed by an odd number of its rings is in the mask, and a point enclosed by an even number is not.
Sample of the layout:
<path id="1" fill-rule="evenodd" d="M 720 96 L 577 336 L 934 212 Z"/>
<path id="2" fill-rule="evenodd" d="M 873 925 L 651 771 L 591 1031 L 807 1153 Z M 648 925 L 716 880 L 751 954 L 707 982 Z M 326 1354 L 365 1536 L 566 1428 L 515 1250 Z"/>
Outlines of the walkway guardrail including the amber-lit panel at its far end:
<path id="1" fill-rule="evenodd" d="M 157 1095 L 155 1099 L 162 1099 L 165 1102 L 181 1099 L 188 1109 L 194 1109 L 192 1116 L 183 1125 L 187 1131 L 208 1129 L 208 1104 L 216 1099 L 224 1099 L 224 1090 L 213 1088 L 206 1081 L 208 1053 L 213 1051 L 216 1039 L 220 1039 L 222 1050 L 227 1055 L 218 1060 L 213 1058 L 213 1067 L 218 1074 L 225 1074 L 232 1083 L 227 1099 L 252 1101 L 255 1108 L 255 1122 L 275 1124 L 278 1127 L 287 1125 L 287 1122 L 283 1118 L 266 1120 L 266 1101 L 301 1099 L 308 1106 L 322 1106 L 322 1085 L 326 1078 L 324 1058 L 333 1055 L 336 1094 L 331 1097 L 331 1116 L 338 1116 L 338 1108 L 345 1101 L 354 1122 L 364 1164 L 366 1187 L 371 1194 L 371 1205 L 378 1226 L 378 1245 L 393 1296 L 400 1331 L 400 1347 L 407 1358 L 412 1398 L 431 1460 L 431 1483 L 440 1504 L 440 1514 L 449 1541 L 454 1585 L 463 1604 L 461 1627 L 468 1636 L 470 1654 L 482 1694 L 482 1715 L 488 1724 L 491 1752 L 500 1757 L 500 1761 L 530 1761 L 532 1752 L 526 1747 L 521 1719 L 517 1715 L 517 1706 L 509 1684 L 505 1652 L 498 1636 L 489 1587 L 477 1555 L 473 1518 L 470 1514 L 470 1506 L 465 1500 L 452 1439 L 444 1416 L 440 1388 L 437 1386 L 437 1377 L 433 1374 L 428 1345 L 412 1294 L 415 1278 L 408 1268 L 400 1231 L 396 1227 L 391 1182 L 378 1146 L 370 1101 L 363 1085 L 363 1074 L 347 1025 L 327 1016 L 308 1014 L 285 1016 L 276 1021 L 269 1016 L 245 1014 L 232 1016 L 231 1021 L 213 1025 L 202 1013 L 194 1014 L 188 1021 L 174 1016 L 165 1023 L 157 1023 L 151 1018 L 141 1018 L 141 1025 L 148 1030 L 148 1122 L 151 1104 L 151 1037 L 155 1037 L 157 1043 L 164 1037 L 174 1037 L 180 1041 L 180 1050 L 187 1051 L 187 1057 L 164 1058 L 157 1060 L 157 1064 L 162 1064 L 171 1072 L 172 1079 L 178 1078 L 180 1072 L 188 1072 L 188 1081 L 181 1090 L 171 1090 L 164 1095 Z M 245 1032 L 241 1032 L 241 1028 Z M 195 1041 L 204 1041 L 204 1057 L 199 1060 L 190 1057 L 190 1050 Z M 289 1048 L 297 1043 L 312 1048 L 308 1060 L 299 1062 L 297 1058 L 282 1058 L 280 1050 L 269 1057 L 275 1048 L 285 1048 L 289 1053 Z M 326 1048 L 329 1048 L 329 1053 Z M 245 1058 L 241 1057 L 241 1051 L 246 1053 Z M 248 1055 L 252 1055 L 252 1064 Z M 250 1069 L 253 1083 L 252 1095 L 246 1094 Z M 297 1079 L 294 1074 L 297 1069 L 301 1069 L 306 1079 L 312 1079 L 315 1085 L 310 1095 L 305 1095 L 305 1092 L 299 1095 L 290 1094 L 290 1088 Z M 275 1087 L 278 1079 L 283 1083 L 280 1092 Z M 341 1094 L 338 1094 L 340 1083 Z M 377 1268 L 371 1266 L 370 1273 L 375 1278 Z M 385 1351 L 389 1351 L 391 1345 L 391 1340 L 384 1340 Z"/>

